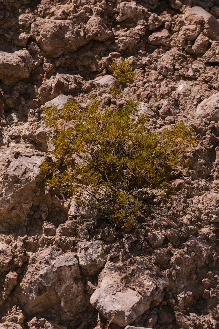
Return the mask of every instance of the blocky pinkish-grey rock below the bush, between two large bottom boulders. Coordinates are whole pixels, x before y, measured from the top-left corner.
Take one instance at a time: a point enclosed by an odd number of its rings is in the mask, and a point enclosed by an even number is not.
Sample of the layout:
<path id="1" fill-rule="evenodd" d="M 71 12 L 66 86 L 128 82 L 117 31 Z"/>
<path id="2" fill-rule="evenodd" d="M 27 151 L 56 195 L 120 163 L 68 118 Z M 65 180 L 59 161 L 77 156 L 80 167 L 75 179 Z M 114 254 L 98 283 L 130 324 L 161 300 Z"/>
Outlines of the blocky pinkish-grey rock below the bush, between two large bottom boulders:
<path id="1" fill-rule="evenodd" d="M 106 263 L 107 254 L 100 241 L 81 241 L 77 243 L 77 256 L 82 273 L 96 275 Z"/>

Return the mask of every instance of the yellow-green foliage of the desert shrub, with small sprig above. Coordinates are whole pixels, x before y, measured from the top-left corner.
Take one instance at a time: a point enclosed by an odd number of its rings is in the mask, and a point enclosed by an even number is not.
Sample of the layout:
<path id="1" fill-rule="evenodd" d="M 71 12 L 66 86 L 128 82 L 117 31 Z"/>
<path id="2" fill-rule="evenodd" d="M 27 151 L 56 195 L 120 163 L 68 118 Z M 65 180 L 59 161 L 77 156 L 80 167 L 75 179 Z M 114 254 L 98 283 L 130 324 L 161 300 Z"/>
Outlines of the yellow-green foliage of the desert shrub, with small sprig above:
<path id="1" fill-rule="evenodd" d="M 122 63 L 127 75 L 120 64 L 115 73 L 125 84 L 133 72 Z M 167 186 L 164 170 L 186 165 L 185 154 L 195 143 L 183 122 L 162 134 L 148 133 L 146 115 L 134 116 L 138 107 L 139 101 L 130 98 L 115 111 L 92 98 L 85 111 L 74 99 L 60 112 L 55 106 L 43 110 L 45 124 L 53 128 L 56 158 L 41 166 L 47 184 L 92 203 L 100 217 L 120 225 L 135 223 L 143 208 L 142 189 Z"/>

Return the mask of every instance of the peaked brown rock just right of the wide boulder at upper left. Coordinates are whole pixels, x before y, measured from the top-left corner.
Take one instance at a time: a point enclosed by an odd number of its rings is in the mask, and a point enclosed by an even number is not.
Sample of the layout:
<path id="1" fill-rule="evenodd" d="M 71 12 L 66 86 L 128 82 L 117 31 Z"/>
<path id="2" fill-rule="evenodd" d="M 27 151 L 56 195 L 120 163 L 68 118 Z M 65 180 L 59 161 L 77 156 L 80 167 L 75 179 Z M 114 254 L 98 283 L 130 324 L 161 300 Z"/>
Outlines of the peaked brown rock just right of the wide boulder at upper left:
<path id="1" fill-rule="evenodd" d="M 85 27 L 86 38 L 88 40 L 106 41 L 112 37 L 113 33 L 108 29 L 106 24 L 98 16 L 92 16 Z"/>

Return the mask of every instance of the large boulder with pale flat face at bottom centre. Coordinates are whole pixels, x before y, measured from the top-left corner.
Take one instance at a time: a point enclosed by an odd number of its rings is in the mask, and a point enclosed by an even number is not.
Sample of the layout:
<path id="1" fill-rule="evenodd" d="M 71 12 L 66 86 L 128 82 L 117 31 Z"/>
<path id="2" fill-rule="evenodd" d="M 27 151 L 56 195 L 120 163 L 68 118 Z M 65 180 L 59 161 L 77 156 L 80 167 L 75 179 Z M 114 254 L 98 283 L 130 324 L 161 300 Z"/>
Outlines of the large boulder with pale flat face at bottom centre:
<path id="1" fill-rule="evenodd" d="M 121 267 L 107 264 L 91 304 L 107 319 L 125 327 L 163 298 L 166 279 L 156 267 L 129 259 Z"/>

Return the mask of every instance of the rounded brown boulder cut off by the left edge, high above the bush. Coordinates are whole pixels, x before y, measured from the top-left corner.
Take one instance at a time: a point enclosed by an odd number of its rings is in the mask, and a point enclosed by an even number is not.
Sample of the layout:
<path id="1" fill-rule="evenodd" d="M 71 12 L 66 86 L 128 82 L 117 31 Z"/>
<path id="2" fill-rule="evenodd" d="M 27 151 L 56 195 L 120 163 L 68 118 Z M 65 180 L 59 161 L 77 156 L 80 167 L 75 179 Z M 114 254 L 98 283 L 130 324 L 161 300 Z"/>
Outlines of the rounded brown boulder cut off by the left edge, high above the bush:
<path id="1" fill-rule="evenodd" d="M 0 79 L 5 85 L 13 85 L 29 78 L 32 64 L 33 58 L 27 50 L 0 51 Z"/>

